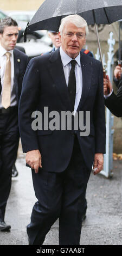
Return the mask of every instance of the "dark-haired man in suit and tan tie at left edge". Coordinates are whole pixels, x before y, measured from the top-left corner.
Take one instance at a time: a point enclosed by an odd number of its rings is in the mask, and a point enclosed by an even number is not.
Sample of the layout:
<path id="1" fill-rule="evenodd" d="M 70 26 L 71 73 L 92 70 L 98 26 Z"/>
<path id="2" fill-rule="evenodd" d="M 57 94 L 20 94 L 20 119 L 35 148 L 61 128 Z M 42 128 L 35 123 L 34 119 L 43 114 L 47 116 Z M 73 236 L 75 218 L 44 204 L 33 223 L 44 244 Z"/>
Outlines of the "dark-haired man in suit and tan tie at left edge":
<path id="1" fill-rule="evenodd" d="M 17 22 L 10 17 L 0 21 L 0 230 L 11 226 L 4 222 L 5 208 L 11 188 L 12 166 L 15 163 L 19 142 L 18 101 L 28 57 L 18 51 Z"/>

